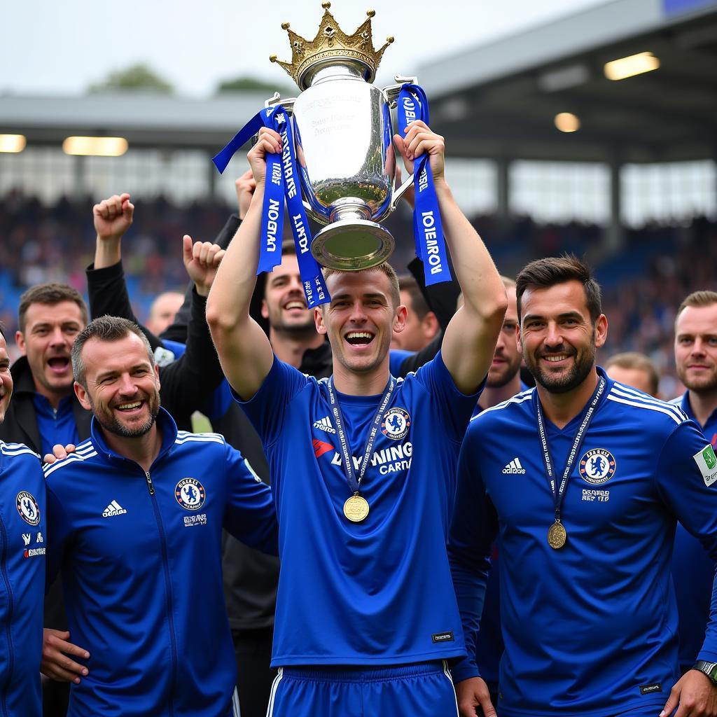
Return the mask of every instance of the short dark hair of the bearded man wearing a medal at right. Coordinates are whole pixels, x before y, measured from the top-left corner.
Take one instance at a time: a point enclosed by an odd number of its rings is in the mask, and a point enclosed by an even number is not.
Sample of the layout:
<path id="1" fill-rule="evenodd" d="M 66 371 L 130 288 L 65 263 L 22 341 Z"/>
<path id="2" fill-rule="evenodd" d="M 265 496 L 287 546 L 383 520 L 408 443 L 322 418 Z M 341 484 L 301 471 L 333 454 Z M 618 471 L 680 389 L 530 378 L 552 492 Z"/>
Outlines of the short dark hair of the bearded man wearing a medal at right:
<path id="1" fill-rule="evenodd" d="M 592 323 L 595 323 L 602 314 L 602 291 L 587 262 L 579 260 L 574 254 L 537 259 L 521 270 L 516 277 L 518 320 L 521 320 L 522 314 L 521 299 L 528 289 L 548 289 L 566 281 L 582 284 L 587 310 Z"/>

